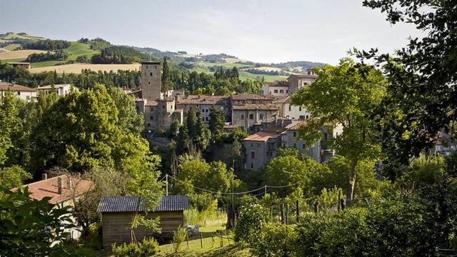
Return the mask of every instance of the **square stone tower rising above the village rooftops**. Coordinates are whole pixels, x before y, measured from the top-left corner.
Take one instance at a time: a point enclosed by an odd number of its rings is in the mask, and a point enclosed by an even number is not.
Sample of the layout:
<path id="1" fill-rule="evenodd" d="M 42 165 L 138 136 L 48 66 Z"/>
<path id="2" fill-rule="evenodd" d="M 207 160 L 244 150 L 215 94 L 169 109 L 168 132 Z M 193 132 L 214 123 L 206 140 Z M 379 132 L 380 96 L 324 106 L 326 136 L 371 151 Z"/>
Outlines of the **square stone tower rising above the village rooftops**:
<path id="1" fill-rule="evenodd" d="M 161 99 L 161 65 L 159 61 L 141 63 L 141 89 L 143 99 Z"/>

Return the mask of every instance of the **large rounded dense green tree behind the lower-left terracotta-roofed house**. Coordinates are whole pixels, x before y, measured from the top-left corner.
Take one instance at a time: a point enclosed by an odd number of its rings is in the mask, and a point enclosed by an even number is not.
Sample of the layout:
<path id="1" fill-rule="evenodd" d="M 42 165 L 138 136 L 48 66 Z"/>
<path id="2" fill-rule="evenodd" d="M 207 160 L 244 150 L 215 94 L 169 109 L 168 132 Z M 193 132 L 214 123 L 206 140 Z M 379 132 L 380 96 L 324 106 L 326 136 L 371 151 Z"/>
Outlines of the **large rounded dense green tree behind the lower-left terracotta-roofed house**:
<path id="1" fill-rule="evenodd" d="M 104 86 L 61 97 L 32 134 L 35 171 L 61 166 L 84 172 L 113 166 L 111 153 L 121 138 L 117 122 L 116 104 Z"/>

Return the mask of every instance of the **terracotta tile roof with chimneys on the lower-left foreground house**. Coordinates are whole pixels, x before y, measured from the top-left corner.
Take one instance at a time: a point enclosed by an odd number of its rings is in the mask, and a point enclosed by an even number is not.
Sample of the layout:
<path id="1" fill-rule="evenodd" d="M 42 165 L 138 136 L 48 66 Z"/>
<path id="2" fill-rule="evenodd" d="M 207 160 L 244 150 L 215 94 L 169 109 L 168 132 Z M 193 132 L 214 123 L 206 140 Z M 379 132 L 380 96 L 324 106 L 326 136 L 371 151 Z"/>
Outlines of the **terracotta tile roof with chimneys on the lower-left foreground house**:
<path id="1" fill-rule="evenodd" d="M 58 179 L 62 179 L 62 193 L 59 193 L 59 188 L 57 186 Z M 81 196 L 82 194 L 90 191 L 94 187 L 94 183 L 87 181 L 85 179 L 71 178 L 71 186 L 69 188 L 69 176 L 61 175 L 54 178 L 48 178 L 41 181 L 36 181 L 34 183 L 29 183 L 23 188 L 28 186 L 31 193 L 30 197 L 36 200 L 41 200 L 42 198 L 49 196 L 51 200 L 49 203 L 61 203 L 68 201 L 73 197 Z"/>

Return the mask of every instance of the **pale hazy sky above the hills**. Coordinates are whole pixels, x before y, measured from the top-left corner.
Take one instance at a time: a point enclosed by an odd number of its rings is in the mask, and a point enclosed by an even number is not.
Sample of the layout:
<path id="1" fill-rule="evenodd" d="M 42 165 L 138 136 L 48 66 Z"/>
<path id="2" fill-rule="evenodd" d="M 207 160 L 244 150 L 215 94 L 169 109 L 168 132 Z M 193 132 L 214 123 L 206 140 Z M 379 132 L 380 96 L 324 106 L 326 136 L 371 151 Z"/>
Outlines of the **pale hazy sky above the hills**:
<path id="1" fill-rule="evenodd" d="M 230 54 L 262 63 L 336 65 L 349 49 L 392 53 L 420 36 L 391 24 L 361 0 L 15 0 L 0 1 L 0 34 L 25 32 L 76 41 L 189 54 Z"/>

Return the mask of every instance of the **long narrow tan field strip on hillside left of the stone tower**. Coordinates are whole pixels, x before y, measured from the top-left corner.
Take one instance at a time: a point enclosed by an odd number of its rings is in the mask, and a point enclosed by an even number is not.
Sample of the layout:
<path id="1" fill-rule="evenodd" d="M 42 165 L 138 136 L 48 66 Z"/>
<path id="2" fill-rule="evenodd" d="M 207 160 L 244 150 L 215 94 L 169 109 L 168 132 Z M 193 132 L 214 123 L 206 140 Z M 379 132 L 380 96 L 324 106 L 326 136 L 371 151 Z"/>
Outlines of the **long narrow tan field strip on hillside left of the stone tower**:
<path id="1" fill-rule="evenodd" d="M 140 69 L 140 64 L 66 64 L 58 66 L 46 66 L 40 68 L 34 68 L 32 64 L 31 73 L 39 73 L 41 71 L 56 71 L 57 73 L 74 73 L 80 74 L 81 69 L 91 69 L 92 71 L 117 71 L 117 70 L 137 70 Z"/>

